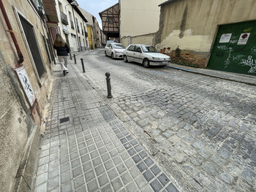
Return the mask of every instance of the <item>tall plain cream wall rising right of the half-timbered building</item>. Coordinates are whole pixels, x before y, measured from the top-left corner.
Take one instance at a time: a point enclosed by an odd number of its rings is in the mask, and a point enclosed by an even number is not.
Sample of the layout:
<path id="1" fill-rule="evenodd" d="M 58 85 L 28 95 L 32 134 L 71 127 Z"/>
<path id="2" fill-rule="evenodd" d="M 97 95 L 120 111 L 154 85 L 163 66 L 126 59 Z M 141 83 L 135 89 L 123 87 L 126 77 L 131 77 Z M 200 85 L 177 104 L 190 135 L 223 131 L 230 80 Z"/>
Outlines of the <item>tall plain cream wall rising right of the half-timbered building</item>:
<path id="1" fill-rule="evenodd" d="M 120 37 L 156 32 L 161 3 L 162 0 L 120 0 Z"/>

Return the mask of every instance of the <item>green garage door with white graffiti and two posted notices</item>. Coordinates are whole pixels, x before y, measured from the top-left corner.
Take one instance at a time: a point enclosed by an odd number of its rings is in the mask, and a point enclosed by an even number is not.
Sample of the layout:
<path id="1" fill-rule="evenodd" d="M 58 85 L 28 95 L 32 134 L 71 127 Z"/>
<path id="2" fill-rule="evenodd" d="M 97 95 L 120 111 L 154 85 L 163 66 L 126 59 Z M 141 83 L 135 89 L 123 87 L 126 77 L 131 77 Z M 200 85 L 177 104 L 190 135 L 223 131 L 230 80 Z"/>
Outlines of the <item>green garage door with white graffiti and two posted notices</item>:
<path id="1" fill-rule="evenodd" d="M 256 21 L 219 26 L 208 68 L 256 76 Z"/>

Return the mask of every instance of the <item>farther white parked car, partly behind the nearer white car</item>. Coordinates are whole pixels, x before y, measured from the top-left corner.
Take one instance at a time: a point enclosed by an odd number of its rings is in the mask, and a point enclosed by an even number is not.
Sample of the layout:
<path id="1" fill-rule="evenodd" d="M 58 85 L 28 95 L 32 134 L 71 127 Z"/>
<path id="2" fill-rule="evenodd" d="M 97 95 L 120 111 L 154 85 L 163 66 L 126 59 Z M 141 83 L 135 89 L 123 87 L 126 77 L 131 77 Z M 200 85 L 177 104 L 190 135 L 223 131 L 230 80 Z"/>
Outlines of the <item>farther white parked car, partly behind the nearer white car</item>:
<path id="1" fill-rule="evenodd" d="M 123 58 L 124 49 L 121 43 L 110 43 L 105 47 L 105 55 L 111 58 Z"/>

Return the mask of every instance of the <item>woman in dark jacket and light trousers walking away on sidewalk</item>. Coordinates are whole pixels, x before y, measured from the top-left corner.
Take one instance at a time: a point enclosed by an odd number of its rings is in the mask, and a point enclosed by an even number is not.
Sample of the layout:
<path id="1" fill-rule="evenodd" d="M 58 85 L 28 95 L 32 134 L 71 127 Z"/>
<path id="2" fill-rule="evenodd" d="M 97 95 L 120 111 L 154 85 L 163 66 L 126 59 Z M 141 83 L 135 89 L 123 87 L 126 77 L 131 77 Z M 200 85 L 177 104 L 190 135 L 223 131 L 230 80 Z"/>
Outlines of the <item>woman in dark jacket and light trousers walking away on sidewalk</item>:
<path id="1" fill-rule="evenodd" d="M 69 46 L 67 42 L 61 37 L 60 34 L 56 34 L 56 38 L 53 42 L 53 48 L 57 50 L 59 62 L 61 63 L 61 69 L 64 75 L 69 73 L 67 70 L 67 57 L 69 55 Z"/>

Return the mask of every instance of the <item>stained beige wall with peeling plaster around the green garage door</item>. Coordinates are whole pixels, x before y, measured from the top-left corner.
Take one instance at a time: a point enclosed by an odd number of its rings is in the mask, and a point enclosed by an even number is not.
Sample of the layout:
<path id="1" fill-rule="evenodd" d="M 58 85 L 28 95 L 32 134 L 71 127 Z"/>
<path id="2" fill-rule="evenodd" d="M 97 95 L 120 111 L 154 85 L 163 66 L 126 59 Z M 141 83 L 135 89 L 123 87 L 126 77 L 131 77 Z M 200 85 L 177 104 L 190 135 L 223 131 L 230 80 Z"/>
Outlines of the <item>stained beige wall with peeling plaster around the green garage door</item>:
<path id="1" fill-rule="evenodd" d="M 157 48 L 171 53 L 178 47 L 187 58 L 193 55 L 194 64 L 197 64 L 196 55 L 203 55 L 205 64 L 199 65 L 206 65 L 219 25 L 255 19 L 255 0 L 246 3 L 242 0 L 173 1 L 161 7 Z"/>

